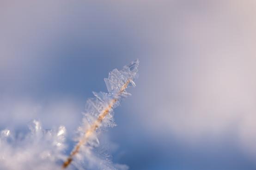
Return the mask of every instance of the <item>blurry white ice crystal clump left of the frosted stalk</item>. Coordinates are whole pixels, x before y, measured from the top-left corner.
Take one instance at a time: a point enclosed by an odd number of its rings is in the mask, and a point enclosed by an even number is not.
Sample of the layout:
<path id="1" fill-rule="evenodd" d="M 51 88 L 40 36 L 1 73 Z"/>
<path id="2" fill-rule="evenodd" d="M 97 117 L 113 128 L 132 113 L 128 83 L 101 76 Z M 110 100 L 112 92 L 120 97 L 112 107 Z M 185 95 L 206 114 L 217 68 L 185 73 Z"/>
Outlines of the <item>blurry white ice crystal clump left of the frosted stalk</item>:
<path id="1" fill-rule="evenodd" d="M 66 128 L 44 130 L 33 120 L 25 136 L 0 131 L 0 170 L 59 170 L 64 159 Z"/>

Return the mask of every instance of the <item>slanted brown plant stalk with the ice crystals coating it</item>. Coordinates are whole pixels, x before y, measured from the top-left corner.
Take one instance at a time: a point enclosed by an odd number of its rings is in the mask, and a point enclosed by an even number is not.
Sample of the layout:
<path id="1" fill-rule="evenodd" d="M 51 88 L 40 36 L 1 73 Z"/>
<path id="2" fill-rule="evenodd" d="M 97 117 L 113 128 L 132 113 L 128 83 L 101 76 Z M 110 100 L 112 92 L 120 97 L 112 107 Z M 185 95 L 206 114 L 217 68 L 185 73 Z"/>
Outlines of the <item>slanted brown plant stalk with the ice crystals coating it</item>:
<path id="1" fill-rule="evenodd" d="M 137 59 L 124 66 L 122 70 L 114 69 L 109 73 L 109 78 L 104 79 L 109 93 L 93 92 L 95 97 L 87 100 L 83 124 L 78 129 L 78 142 L 63 163 L 63 169 L 67 168 L 80 152 L 88 154 L 92 147 L 98 145 L 97 132 L 100 129 L 115 126 L 113 109 L 119 105 L 122 98 L 131 95 L 126 89 L 130 86 L 135 87 L 134 79 L 137 77 L 138 66 Z"/>

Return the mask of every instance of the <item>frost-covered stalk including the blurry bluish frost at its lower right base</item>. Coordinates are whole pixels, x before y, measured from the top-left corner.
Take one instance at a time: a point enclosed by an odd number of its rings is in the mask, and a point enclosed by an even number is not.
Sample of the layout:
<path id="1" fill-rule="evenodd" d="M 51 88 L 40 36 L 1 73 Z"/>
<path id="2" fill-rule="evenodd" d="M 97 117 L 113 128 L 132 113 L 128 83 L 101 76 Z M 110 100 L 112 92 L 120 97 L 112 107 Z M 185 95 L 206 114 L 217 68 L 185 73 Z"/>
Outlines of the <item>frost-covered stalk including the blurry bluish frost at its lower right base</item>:
<path id="1" fill-rule="evenodd" d="M 110 160 L 100 158 L 93 152 L 99 146 L 98 133 L 107 127 L 114 127 L 114 112 L 122 99 L 131 95 L 126 91 L 130 86 L 135 87 L 134 79 L 137 77 L 139 60 L 124 66 L 122 70 L 114 69 L 104 79 L 109 93 L 93 92 L 94 98 L 88 99 L 85 105 L 84 119 L 78 128 L 77 145 L 63 168 L 73 164 L 76 168 L 98 170 L 128 169 L 125 165 L 114 165 Z"/>

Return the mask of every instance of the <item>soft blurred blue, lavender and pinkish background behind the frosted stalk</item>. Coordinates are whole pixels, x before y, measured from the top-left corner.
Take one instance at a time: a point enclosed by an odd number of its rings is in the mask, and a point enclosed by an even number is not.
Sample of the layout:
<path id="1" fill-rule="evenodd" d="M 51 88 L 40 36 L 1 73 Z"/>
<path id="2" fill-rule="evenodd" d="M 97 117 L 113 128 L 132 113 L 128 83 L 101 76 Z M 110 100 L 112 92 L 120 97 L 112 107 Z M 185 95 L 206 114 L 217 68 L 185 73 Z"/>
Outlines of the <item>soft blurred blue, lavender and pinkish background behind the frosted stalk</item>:
<path id="1" fill-rule="evenodd" d="M 91 91 L 139 58 L 115 163 L 255 170 L 255 30 L 255 0 L 1 0 L 0 129 L 39 119 L 71 140 Z"/>

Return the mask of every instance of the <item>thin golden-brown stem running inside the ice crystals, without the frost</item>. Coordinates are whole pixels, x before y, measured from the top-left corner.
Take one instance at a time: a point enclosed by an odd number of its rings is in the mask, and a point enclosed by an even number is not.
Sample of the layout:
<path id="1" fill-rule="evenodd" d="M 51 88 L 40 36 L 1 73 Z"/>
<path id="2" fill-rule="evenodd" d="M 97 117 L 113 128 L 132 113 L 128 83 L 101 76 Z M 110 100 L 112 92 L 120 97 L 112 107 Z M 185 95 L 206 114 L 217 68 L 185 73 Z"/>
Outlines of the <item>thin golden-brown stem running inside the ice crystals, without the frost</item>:
<path id="1" fill-rule="evenodd" d="M 130 83 L 131 80 L 128 80 L 121 88 L 121 90 L 117 93 L 120 95 L 125 89 L 128 87 L 128 84 Z M 98 119 L 95 120 L 95 122 L 90 126 L 90 128 L 85 132 L 84 137 L 77 143 L 77 145 L 74 147 L 73 151 L 70 153 L 69 157 L 67 160 L 62 164 L 62 168 L 66 169 L 69 164 L 73 161 L 73 157 L 79 153 L 79 149 L 82 145 L 84 145 L 88 138 L 91 136 L 91 134 L 99 127 L 103 119 L 106 117 L 106 115 L 110 112 L 110 109 L 114 106 L 114 104 L 117 102 L 117 98 L 112 99 L 110 102 L 109 106 L 105 108 L 102 113 L 98 116 Z"/>

